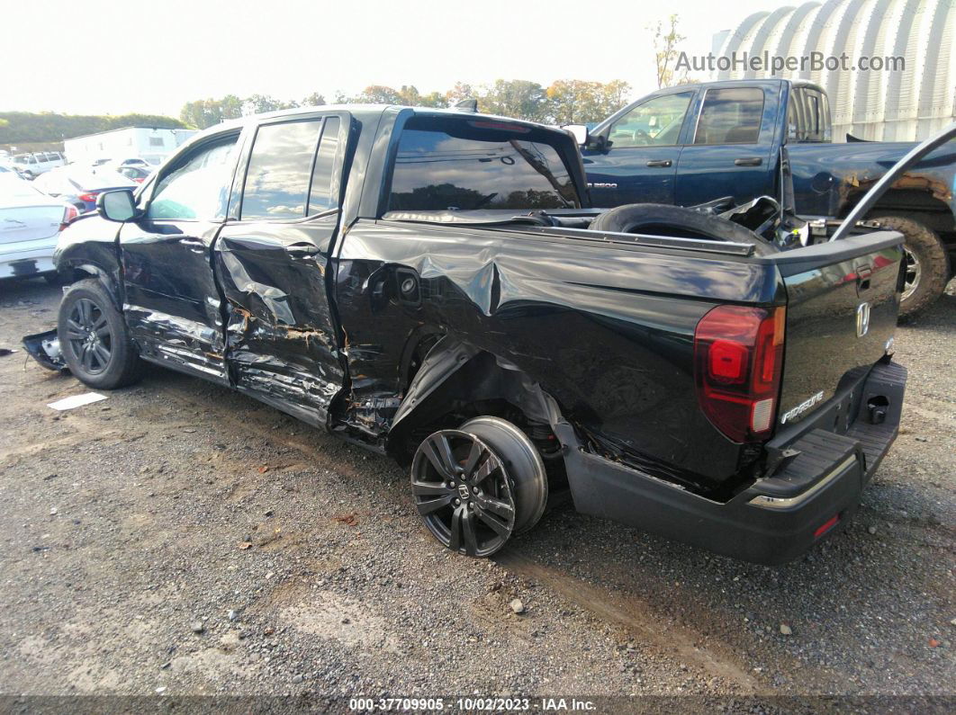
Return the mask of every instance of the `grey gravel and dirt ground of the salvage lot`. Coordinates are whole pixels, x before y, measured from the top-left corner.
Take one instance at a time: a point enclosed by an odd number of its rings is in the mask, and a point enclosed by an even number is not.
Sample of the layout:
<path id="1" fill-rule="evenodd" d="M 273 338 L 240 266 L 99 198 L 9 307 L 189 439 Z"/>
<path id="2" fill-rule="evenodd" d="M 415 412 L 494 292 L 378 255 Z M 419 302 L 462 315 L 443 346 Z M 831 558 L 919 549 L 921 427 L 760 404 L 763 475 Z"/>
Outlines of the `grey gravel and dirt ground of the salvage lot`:
<path id="1" fill-rule="evenodd" d="M 392 462 L 251 399 L 157 368 L 56 412 L 87 390 L 2 357 L 0 692 L 952 695 L 949 290 L 898 331 L 904 427 L 857 520 L 775 569 L 570 505 L 452 556 Z M 58 296 L 0 286 L 0 347 Z"/>

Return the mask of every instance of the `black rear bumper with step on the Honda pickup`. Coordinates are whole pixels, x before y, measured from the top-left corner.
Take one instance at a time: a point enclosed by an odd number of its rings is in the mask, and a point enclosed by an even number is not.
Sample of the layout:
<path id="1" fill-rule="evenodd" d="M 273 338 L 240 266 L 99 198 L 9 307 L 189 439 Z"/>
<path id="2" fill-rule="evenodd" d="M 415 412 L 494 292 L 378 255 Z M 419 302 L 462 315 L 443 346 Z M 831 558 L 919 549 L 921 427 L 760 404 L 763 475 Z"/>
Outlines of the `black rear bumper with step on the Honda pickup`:
<path id="1" fill-rule="evenodd" d="M 798 452 L 783 468 L 724 503 L 573 450 L 566 461 L 576 509 L 747 561 L 793 560 L 857 511 L 863 487 L 896 438 L 905 383 L 905 368 L 877 365 L 851 388 L 858 411 L 848 431 L 810 421 L 778 446 Z M 874 424 L 867 405 L 877 397 L 887 407 Z"/>

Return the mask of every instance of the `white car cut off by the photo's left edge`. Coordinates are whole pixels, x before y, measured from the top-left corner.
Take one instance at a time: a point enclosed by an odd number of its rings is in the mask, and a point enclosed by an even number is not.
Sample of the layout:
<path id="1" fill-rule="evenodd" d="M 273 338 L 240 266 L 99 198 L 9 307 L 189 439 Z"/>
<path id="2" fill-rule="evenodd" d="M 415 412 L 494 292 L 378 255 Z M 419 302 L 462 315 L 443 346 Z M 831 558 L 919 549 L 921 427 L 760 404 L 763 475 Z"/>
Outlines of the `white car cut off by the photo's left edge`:
<path id="1" fill-rule="evenodd" d="M 0 278 L 55 275 L 59 233 L 78 215 L 76 206 L 0 172 Z"/>

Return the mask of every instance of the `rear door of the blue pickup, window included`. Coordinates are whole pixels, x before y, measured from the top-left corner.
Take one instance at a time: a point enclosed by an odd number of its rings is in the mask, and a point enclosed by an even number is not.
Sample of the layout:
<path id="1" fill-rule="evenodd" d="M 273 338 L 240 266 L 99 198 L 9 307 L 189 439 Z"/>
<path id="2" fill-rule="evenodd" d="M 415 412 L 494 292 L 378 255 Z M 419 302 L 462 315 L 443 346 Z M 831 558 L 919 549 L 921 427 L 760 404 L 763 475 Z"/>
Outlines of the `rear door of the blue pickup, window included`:
<path id="1" fill-rule="evenodd" d="M 701 100 L 677 167 L 677 204 L 774 196 L 777 105 L 771 87 L 710 87 Z"/>

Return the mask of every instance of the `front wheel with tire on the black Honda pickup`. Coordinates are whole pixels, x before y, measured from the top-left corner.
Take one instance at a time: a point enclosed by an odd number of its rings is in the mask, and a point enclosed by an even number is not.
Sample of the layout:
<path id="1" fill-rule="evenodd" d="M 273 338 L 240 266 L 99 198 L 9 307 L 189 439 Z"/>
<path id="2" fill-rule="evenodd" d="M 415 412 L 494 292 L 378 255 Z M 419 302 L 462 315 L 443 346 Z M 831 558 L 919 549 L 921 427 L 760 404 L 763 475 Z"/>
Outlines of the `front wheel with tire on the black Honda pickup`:
<path id="1" fill-rule="evenodd" d="M 96 279 L 70 286 L 60 302 L 56 335 L 67 367 L 84 385 L 117 389 L 137 382 L 143 364 L 120 311 Z"/>

